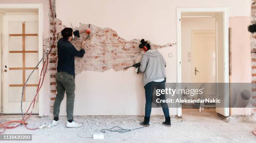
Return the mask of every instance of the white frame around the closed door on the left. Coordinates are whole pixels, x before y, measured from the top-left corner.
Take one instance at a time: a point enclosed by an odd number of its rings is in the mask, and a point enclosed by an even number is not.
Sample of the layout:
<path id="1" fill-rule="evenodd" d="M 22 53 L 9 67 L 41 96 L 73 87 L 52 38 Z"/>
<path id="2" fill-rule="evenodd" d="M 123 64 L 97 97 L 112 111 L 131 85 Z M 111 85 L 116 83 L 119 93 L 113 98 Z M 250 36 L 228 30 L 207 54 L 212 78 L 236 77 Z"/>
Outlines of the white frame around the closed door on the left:
<path id="1" fill-rule="evenodd" d="M 38 9 L 38 61 L 42 58 L 43 56 L 43 4 L 0 4 L 0 9 Z M 1 15 L 1 22 L 2 22 L 2 15 Z M 0 31 L 3 31 L 3 25 L 0 25 L 1 29 Z M 3 41 L 3 36 L 0 35 L 0 41 Z M 0 113 L 3 113 L 3 59 L 2 59 L 2 54 L 3 54 L 3 42 L 0 43 L 0 49 L 1 49 L 1 54 L 0 54 L 0 63 L 1 63 L 1 76 L 0 76 L 0 91 L 1 91 L 1 96 L 0 96 Z M 42 64 L 39 64 L 38 66 L 38 71 L 41 71 L 42 69 Z M 40 74 L 40 72 L 38 72 Z M 40 77 L 40 75 L 39 75 Z M 43 116 L 43 95 L 42 91 L 44 89 L 44 85 L 41 88 L 41 91 L 38 93 L 38 114 L 39 116 Z"/>

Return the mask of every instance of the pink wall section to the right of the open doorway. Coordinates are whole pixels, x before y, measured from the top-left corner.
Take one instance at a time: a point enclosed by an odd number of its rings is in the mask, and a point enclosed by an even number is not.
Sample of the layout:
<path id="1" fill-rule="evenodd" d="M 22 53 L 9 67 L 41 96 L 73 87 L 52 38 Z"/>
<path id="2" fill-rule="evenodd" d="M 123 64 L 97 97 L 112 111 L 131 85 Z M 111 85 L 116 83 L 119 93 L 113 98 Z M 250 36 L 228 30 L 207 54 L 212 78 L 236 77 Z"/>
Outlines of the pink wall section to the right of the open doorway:
<path id="1" fill-rule="evenodd" d="M 251 24 L 251 17 L 230 17 L 229 21 L 229 27 L 232 28 L 230 81 L 251 83 L 251 33 L 246 28 Z M 251 108 L 230 108 L 230 113 L 231 115 L 251 115 L 252 110 Z"/>

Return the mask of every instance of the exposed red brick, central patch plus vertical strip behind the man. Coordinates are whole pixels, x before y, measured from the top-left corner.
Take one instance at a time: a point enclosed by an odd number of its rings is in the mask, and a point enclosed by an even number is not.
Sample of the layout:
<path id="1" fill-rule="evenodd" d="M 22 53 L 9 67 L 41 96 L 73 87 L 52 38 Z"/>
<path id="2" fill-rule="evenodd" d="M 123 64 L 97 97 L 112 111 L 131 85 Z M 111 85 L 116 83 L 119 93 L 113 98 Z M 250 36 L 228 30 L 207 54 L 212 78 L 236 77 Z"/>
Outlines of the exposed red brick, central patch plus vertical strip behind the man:
<path id="1" fill-rule="evenodd" d="M 52 17 L 51 17 L 52 19 Z M 58 19 L 55 21 L 56 35 L 61 38 L 61 30 L 66 27 L 62 25 L 62 22 Z M 87 29 L 89 25 L 81 24 L 79 27 L 75 27 L 74 30 Z M 51 34 L 53 33 L 53 21 L 51 21 Z M 109 69 L 114 71 L 122 71 L 125 67 L 134 64 L 141 51 L 138 48 L 141 39 L 132 39 L 127 41 L 118 36 L 117 32 L 110 28 L 100 28 L 95 25 L 90 25 L 91 35 L 90 39 L 85 43 L 85 54 L 84 57 L 75 57 L 75 73 L 80 74 L 82 71 L 95 71 L 95 72 L 105 72 Z M 82 46 L 82 40 L 87 37 L 87 34 L 83 33 L 80 37 L 76 37 L 72 40 L 72 44 L 77 50 Z M 50 47 L 51 39 L 53 37 L 44 39 L 44 51 Z M 53 101 L 56 97 L 56 67 L 58 63 L 57 57 L 57 42 L 51 51 L 49 59 L 49 72 L 50 72 L 50 99 L 51 108 L 53 107 Z M 167 43 L 164 45 L 152 44 L 151 49 L 160 49 L 164 47 L 172 47 L 176 43 Z"/>

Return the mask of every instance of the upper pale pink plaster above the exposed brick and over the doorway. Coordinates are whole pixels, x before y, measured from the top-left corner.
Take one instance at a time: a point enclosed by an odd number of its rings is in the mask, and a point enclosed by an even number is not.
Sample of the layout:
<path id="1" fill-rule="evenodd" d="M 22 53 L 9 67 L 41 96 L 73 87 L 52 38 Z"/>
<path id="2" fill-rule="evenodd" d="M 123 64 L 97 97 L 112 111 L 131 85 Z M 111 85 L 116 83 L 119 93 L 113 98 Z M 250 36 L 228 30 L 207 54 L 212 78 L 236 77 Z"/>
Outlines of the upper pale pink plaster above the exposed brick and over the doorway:
<path id="1" fill-rule="evenodd" d="M 176 41 L 177 7 L 228 7 L 230 17 L 249 16 L 251 0 L 56 0 L 64 25 L 92 23 L 127 40 L 145 37 L 158 44 Z"/>

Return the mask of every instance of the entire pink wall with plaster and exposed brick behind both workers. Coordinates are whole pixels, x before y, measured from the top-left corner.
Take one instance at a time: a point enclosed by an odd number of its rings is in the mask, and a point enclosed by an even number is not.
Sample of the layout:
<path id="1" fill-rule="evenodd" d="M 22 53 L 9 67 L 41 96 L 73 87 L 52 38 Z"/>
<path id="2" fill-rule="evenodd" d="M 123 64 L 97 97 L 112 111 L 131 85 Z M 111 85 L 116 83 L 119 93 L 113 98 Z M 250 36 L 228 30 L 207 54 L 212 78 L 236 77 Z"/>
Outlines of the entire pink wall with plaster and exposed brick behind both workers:
<path id="1" fill-rule="evenodd" d="M 5 3 L 39 1 L 1 0 Z M 57 31 L 64 25 L 74 26 L 74 29 L 88 27 L 88 24 L 92 26 L 92 39 L 86 43 L 85 57 L 76 58 L 75 61 L 77 76 L 74 115 L 144 114 L 145 93 L 142 74 L 137 75 L 133 68 L 122 70 L 126 65 L 137 62 L 140 55 L 137 49 L 138 41 L 141 38 L 150 40 L 163 54 L 167 62 L 167 82 L 177 81 L 177 7 L 228 7 L 230 17 L 249 17 L 251 14 L 251 0 L 215 0 L 214 3 L 212 0 L 56 0 L 56 17 L 59 19 L 56 21 L 56 26 L 59 27 Z M 49 18 L 47 24 L 44 24 L 44 49 L 49 47 L 53 33 L 53 17 L 49 16 L 47 9 L 49 5 L 44 4 L 44 18 Z M 50 33 L 46 25 L 50 25 Z M 239 27 L 239 23 L 236 26 Z M 85 36 L 87 35 L 72 41 L 75 47 L 81 47 L 82 38 Z M 123 43 L 116 44 L 118 39 Z M 99 43 L 100 41 L 113 43 Z M 111 52 L 113 48 L 116 55 Z M 103 53 L 106 56 L 102 56 Z M 52 105 L 56 96 L 56 55 L 55 45 L 50 54 L 50 68 L 44 81 L 44 115 L 52 115 Z M 109 57 L 104 59 L 108 55 Z M 61 115 L 66 115 L 65 100 L 66 97 L 61 104 Z M 176 108 L 171 108 L 170 114 L 174 115 L 176 111 Z M 162 114 L 161 108 L 152 110 L 152 115 Z"/>

